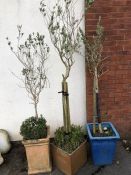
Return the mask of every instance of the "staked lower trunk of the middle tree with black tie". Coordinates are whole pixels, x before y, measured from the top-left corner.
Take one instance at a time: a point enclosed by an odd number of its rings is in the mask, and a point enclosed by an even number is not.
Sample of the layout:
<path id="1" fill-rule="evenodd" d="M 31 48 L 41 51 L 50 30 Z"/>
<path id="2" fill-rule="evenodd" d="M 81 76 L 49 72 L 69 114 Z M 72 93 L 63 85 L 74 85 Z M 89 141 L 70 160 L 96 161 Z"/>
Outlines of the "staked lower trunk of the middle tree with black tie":
<path id="1" fill-rule="evenodd" d="M 71 121 L 70 121 L 68 83 L 64 80 L 62 81 L 62 102 L 63 102 L 64 130 L 66 133 L 69 133 L 71 131 Z"/>

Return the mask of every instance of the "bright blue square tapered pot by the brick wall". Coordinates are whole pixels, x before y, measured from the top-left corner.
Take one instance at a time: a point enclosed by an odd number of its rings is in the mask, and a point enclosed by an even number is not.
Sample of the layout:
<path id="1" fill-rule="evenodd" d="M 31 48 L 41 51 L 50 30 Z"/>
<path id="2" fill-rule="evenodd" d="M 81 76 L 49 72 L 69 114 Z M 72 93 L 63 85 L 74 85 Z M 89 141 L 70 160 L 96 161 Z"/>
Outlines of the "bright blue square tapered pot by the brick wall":
<path id="1" fill-rule="evenodd" d="M 93 123 L 87 124 L 93 163 L 94 165 L 99 166 L 112 164 L 116 151 L 116 143 L 120 139 L 120 136 L 112 123 L 103 122 L 102 127 L 111 127 L 114 136 L 94 137 L 92 136 Z"/>

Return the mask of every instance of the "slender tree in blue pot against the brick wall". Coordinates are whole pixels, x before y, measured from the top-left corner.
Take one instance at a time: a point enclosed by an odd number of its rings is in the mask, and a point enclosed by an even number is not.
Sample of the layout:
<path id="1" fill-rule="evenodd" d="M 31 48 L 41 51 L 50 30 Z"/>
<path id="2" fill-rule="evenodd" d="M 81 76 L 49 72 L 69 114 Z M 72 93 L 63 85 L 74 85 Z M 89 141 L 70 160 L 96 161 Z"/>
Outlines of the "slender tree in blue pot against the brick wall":
<path id="1" fill-rule="evenodd" d="M 90 38 L 82 35 L 85 43 L 87 69 L 93 77 L 93 123 L 87 124 L 92 158 L 95 165 L 107 165 L 111 164 L 114 159 L 116 142 L 120 136 L 112 123 L 101 121 L 99 79 L 106 73 L 104 62 L 107 57 L 102 56 L 104 28 L 100 24 L 100 19 L 95 36 Z"/>

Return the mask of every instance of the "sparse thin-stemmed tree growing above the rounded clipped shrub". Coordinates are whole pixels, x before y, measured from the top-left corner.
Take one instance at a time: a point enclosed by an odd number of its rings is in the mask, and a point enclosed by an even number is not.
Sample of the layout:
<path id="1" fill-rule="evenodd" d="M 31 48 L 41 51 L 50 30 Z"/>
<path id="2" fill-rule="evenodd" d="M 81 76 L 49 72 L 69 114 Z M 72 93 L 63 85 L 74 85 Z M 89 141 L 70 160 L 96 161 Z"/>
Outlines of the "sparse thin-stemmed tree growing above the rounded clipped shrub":
<path id="1" fill-rule="evenodd" d="M 49 47 L 45 43 L 45 36 L 37 32 L 29 34 L 23 40 L 24 33 L 22 25 L 17 26 L 17 47 L 14 48 L 12 42 L 7 37 L 8 45 L 18 61 L 22 64 L 22 77 L 18 77 L 24 84 L 30 99 L 33 101 L 35 116 L 38 117 L 37 105 L 42 90 L 48 83 L 46 76 L 46 60 L 49 55 Z M 17 76 L 16 76 L 17 77 Z"/>

